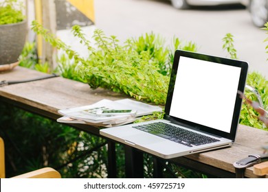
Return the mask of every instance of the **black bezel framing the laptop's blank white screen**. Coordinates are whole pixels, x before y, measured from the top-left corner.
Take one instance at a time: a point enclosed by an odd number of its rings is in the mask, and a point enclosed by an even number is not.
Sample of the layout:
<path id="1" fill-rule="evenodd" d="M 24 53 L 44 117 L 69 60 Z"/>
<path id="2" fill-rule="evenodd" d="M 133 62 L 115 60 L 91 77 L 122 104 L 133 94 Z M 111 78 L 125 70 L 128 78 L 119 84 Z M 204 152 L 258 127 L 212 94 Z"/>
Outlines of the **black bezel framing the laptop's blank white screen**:
<path id="1" fill-rule="evenodd" d="M 194 58 L 194 59 L 198 59 L 198 60 L 205 60 L 208 62 L 216 62 L 219 64 L 226 64 L 226 65 L 230 65 L 233 67 L 240 67 L 241 74 L 240 74 L 240 78 L 239 78 L 239 82 L 238 82 L 238 91 L 241 91 L 242 93 L 244 92 L 245 82 L 247 79 L 247 69 L 248 69 L 247 62 L 241 61 L 241 60 L 232 60 L 229 58 L 221 58 L 218 56 L 209 56 L 209 55 L 205 55 L 202 53 L 194 53 L 194 52 L 190 52 L 190 51 L 176 50 L 173 65 L 172 65 L 172 71 L 170 74 L 170 84 L 168 87 L 168 95 L 167 95 L 167 99 L 166 99 L 164 119 L 167 119 L 168 121 L 171 121 L 171 122 L 179 124 L 179 125 L 186 126 L 187 128 L 199 130 L 199 131 L 202 131 L 205 133 L 224 137 L 226 139 L 230 139 L 230 140 L 234 141 L 235 136 L 236 136 L 237 126 L 239 123 L 241 106 L 242 106 L 242 99 L 239 97 L 238 94 L 236 95 L 236 101 L 235 101 L 235 105 L 234 105 L 234 113 L 233 113 L 233 117 L 232 117 L 230 132 L 223 132 L 220 130 L 216 130 L 214 128 L 207 127 L 205 125 L 200 125 L 198 123 L 193 123 L 190 121 L 186 121 L 184 119 L 172 117 L 170 115 L 170 106 L 171 106 L 171 102 L 172 102 L 172 94 L 173 94 L 174 87 L 175 87 L 177 70 L 179 67 L 179 59 L 181 56 L 187 57 L 187 58 Z M 219 123 L 221 123 L 221 122 L 219 122 Z"/>

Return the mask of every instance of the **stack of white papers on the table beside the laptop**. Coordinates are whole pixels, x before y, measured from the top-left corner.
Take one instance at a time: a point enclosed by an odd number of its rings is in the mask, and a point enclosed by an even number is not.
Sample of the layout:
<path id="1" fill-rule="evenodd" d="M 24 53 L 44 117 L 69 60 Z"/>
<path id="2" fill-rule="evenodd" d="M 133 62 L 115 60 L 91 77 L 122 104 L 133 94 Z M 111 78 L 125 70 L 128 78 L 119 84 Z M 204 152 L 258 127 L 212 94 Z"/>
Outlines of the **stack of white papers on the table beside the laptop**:
<path id="1" fill-rule="evenodd" d="M 137 112 L 135 115 L 100 116 L 97 115 L 99 110 L 135 110 Z M 131 123 L 138 117 L 150 115 L 155 111 L 161 112 L 162 108 L 131 99 L 120 99 L 117 101 L 102 99 L 96 104 L 89 106 L 58 110 L 58 113 L 63 115 L 63 117 L 60 117 L 57 121 L 61 123 L 82 123 L 109 128 Z"/>

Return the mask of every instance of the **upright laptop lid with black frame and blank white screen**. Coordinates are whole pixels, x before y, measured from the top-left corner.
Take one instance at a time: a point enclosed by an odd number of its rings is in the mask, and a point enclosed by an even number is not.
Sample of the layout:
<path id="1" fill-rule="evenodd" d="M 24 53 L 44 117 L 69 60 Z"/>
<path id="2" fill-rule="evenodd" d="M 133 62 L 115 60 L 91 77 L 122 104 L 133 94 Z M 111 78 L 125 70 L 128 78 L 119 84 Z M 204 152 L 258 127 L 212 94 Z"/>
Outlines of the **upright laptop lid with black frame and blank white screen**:
<path id="1" fill-rule="evenodd" d="M 175 51 L 165 119 L 234 141 L 247 62 Z"/>

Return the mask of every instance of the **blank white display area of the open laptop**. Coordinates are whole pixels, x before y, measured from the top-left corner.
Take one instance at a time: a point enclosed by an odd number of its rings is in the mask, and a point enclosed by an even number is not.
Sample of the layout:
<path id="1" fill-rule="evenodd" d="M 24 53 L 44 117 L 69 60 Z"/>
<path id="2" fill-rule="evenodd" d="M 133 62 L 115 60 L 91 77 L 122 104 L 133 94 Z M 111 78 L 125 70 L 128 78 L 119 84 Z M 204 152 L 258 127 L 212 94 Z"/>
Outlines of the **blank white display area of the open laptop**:
<path id="1" fill-rule="evenodd" d="M 169 115 L 230 133 L 241 67 L 181 56 Z"/>

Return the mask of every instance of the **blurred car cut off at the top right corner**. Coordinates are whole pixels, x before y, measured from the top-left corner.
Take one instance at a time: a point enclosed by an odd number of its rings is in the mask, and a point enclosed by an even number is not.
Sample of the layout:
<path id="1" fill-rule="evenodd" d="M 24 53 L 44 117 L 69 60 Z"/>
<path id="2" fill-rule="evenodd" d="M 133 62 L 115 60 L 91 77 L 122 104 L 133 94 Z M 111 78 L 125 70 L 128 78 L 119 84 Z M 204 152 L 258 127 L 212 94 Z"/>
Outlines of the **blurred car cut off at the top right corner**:
<path id="1" fill-rule="evenodd" d="M 241 0 L 241 3 L 249 10 L 252 23 L 263 27 L 268 21 L 268 0 Z"/>

